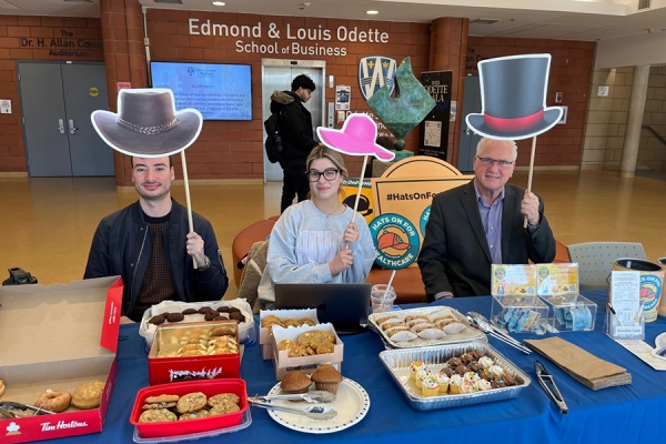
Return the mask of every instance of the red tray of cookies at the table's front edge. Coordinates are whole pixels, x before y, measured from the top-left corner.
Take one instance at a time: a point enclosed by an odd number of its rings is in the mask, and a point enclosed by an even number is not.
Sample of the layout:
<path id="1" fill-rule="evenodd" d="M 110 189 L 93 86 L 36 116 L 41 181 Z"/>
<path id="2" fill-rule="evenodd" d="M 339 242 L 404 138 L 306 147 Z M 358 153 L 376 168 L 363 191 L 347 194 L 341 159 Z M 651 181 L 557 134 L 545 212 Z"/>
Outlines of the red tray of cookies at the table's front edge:
<path id="1" fill-rule="evenodd" d="M 159 396 L 163 394 L 183 396 L 188 393 L 195 392 L 202 392 L 206 397 L 222 393 L 233 393 L 240 398 L 240 410 L 233 413 L 202 417 L 199 420 L 172 421 L 163 423 L 139 422 L 139 417 L 141 416 L 141 413 L 143 413 L 141 407 L 145 403 L 147 397 Z M 241 424 L 243 414 L 246 410 L 248 393 L 245 389 L 245 381 L 240 379 L 189 381 L 178 384 L 151 385 L 150 387 L 141 389 L 137 394 L 137 400 L 134 401 L 134 407 L 132 408 L 132 414 L 130 415 L 130 423 L 137 427 L 137 432 L 141 438 L 165 438 L 164 442 L 169 442 L 169 438 L 182 435 L 200 434 L 228 427 L 235 427 Z"/>

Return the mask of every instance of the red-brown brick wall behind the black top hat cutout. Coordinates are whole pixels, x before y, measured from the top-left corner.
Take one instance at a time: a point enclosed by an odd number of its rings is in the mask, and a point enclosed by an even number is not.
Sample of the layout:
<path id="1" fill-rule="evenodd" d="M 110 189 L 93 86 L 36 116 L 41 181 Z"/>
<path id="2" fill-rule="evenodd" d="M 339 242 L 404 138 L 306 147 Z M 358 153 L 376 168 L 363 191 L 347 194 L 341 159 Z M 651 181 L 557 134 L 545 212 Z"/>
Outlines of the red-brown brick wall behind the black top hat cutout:
<path id="1" fill-rule="evenodd" d="M 495 57 L 549 53 L 551 74 L 546 105 L 555 105 L 562 92 L 562 105 L 568 107 L 566 124 L 555 125 L 536 141 L 534 164 L 548 167 L 578 165 L 582 157 L 587 94 L 594 63 L 594 42 L 546 39 L 472 37 L 467 41 L 467 72 L 477 73 L 476 63 Z M 532 140 L 518 141 L 517 165 L 529 164 Z"/>

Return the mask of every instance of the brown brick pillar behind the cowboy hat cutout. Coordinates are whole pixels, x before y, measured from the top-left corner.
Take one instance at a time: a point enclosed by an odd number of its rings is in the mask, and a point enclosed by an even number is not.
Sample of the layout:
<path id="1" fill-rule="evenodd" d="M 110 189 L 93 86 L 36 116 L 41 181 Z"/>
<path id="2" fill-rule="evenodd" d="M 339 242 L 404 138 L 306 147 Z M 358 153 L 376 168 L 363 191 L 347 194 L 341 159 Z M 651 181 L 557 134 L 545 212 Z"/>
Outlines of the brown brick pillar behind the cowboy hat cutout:
<path id="1" fill-rule="evenodd" d="M 143 16 L 139 0 L 101 0 L 100 9 L 109 108 L 117 112 L 118 82 L 130 82 L 132 88 L 148 87 Z M 115 185 L 132 186 L 129 158 L 114 151 L 113 161 Z"/>

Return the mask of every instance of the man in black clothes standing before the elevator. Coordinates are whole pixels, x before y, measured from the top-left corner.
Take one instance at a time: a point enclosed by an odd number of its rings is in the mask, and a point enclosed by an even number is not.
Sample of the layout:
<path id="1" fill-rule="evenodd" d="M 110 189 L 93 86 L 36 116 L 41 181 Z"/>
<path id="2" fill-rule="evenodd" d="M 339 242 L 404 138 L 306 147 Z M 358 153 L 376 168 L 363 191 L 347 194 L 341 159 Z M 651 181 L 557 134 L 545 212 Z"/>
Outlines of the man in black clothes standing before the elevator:
<path id="1" fill-rule="evenodd" d="M 299 202 L 307 198 L 310 183 L 305 174 L 305 159 L 317 145 L 313 139 L 312 115 L 303 105 L 312 97 L 314 82 L 305 74 L 294 78 L 291 91 L 275 91 L 271 95 L 271 113 L 280 113 L 279 131 L 282 138 L 280 167 L 284 172 L 282 184 L 283 213 L 297 195 Z"/>

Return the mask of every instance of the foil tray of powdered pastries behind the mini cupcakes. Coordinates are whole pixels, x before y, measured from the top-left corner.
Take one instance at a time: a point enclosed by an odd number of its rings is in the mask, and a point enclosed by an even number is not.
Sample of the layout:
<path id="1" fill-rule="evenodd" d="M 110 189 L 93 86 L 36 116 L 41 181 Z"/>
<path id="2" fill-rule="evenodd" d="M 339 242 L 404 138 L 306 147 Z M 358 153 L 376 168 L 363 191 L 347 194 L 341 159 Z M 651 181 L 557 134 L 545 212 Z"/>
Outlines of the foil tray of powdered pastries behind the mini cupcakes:
<path id="1" fill-rule="evenodd" d="M 447 334 L 440 339 L 422 339 L 416 337 L 411 341 L 393 341 L 384 330 L 382 330 L 380 322 L 386 316 L 396 316 L 400 320 L 406 320 L 408 316 L 420 316 L 425 315 L 435 319 L 435 316 L 446 316 L 451 315 L 455 317 L 457 322 L 463 324 L 465 327 L 460 333 Z M 467 322 L 467 317 L 465 317 L 461 312 L 450 306 L 424 306 L 420 309 L 408 309 L 401 310 L 395 312 L 386 312 L 386 313 L 372 313 L 367 316 L 367 321 L 370 327 L 375 331 L 384 341 L 384 345 L 386 349 L 412 349 L 412 347 L 422 347 L 422 346 L 433 346 L 433 345 L 444 345 L 444 344 L 454 344 L 458 342 L 470 342 L 485 339 L 485 333 L 480 330 L 476 330 L 470 325 Z"/>

